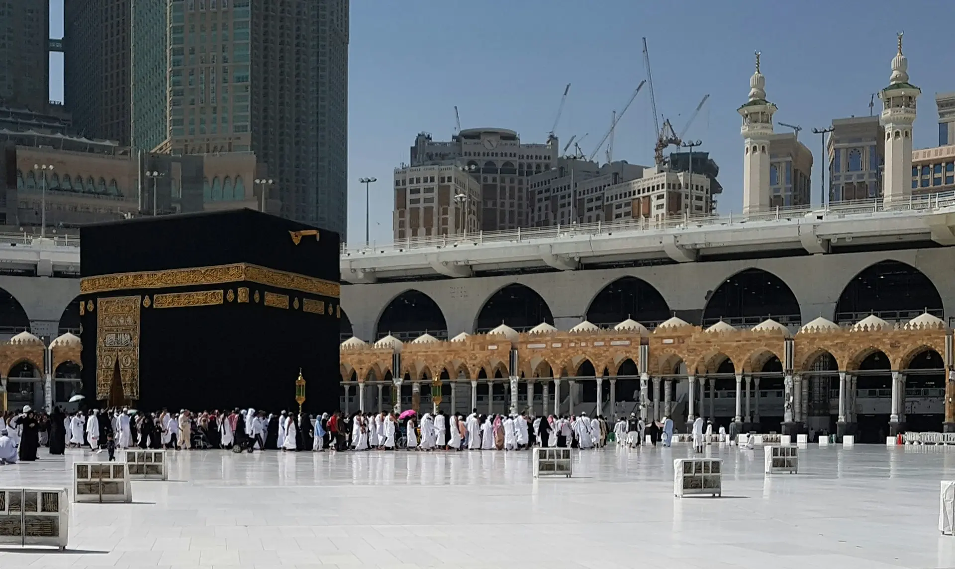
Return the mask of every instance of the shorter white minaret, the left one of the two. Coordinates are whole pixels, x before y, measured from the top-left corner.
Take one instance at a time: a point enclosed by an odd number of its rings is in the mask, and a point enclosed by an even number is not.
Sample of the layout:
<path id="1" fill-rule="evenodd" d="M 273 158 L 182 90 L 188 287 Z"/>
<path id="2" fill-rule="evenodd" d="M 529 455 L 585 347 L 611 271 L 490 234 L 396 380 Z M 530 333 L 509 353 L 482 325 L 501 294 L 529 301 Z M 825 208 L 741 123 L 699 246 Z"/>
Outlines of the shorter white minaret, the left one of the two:
<path id="1" fill-rule="evenodd" d="M 770 208 L 770 136 L 776 106 L 766 100 L 766 77 L 759 73 L 759 52 L 756 52 L 756 73 L 750 77 L 750 100 L 737 109 L 743 116 L 743 213 Z"/>

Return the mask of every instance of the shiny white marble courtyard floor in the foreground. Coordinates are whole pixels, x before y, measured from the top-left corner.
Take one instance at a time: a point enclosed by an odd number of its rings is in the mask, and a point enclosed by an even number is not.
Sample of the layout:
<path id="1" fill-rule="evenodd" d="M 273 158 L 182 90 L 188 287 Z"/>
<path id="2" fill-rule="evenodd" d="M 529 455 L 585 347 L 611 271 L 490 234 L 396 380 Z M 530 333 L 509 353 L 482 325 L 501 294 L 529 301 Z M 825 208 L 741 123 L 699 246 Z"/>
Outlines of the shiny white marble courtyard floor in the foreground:
<path id="1" fill-rule="evenodd" d="M 0 485 L 69 487 L 91 457 L 41 453 Z M 177 453 L 133 504 L 72 504 L 67 552 L 2 549 L 0 567 L 955 567 L 937 531 L 955 448 L 811 447 L 772 478 L 760 450 L 708 453 L 722 498 L 673 497 L 686 446 L 586 451 L 539 481 L 530 453 Z"/>

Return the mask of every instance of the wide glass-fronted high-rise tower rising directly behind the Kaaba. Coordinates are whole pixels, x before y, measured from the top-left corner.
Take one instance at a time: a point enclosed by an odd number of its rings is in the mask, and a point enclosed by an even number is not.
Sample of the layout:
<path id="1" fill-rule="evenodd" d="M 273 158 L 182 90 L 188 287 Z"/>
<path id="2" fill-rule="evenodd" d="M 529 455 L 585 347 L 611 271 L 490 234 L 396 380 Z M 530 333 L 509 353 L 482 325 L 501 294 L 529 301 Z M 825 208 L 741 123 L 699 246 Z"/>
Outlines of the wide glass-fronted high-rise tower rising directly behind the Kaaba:
<path id="1" fill-rule="evenodd" d="M 284 217 L 344 235 L 349 1 L 170 0 L 168 25 L 166 150 L 254 151 Z"/>

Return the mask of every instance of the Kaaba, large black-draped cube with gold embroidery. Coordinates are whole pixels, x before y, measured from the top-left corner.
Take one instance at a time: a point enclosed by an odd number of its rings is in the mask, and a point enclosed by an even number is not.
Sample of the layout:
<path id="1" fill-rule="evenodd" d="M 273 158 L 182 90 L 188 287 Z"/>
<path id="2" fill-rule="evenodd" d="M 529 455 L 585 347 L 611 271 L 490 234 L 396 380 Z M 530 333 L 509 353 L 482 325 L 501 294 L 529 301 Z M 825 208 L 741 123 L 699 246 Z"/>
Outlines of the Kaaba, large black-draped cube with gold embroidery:
<path id="1" fill-rule="evenodd" d="M 306 410 L 338 408 L 336 233 L 241 209 L 96 223 L 80 240 L 88 403 L 291 411 L 304 390 Z"/>

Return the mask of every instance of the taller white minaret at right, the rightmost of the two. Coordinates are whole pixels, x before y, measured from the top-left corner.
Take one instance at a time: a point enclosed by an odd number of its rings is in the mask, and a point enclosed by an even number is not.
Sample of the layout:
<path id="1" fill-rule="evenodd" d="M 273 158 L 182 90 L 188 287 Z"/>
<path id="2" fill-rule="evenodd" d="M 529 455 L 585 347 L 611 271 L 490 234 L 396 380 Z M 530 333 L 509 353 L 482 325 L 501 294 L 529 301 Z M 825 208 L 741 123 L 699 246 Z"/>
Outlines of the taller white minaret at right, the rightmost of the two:
<path id="1" fill-rule="evenodd" d="M 885 129 L 885 169 L 882 172 L 882 200 L 885 203 L 907 201 L 912 195 L 912 123 L 915 122 L 915 99 L 922 90 L 908 82 L 908 59 L 902 55 L 902 33 L 899 53 L 892 58 L 889 86 L 881 90 L 882 114 L 879 122 Z"/>

